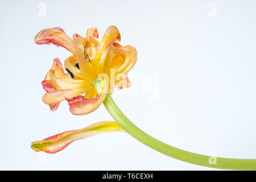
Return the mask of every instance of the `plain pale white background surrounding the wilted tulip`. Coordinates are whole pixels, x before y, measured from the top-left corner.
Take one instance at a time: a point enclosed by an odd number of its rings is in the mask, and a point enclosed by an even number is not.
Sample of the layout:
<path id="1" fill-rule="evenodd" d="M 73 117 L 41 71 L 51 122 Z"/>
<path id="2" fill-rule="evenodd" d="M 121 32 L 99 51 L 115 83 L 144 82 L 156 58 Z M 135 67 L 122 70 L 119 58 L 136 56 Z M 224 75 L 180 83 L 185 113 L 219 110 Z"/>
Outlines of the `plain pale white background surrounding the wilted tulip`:
<path id="1" fill-rule="evenodd" d="M 46 16 L 39 16 L 40 3 Z M 256 1 L 1 1 L 0 169 L 210 169 L 164 156 L 124 133 L 79 140 L 57 154 L 31 150 L 35 140 L 112 120 L 103 105 L 76 116 L 67 102 L 55 112 L 43 104 L 41 81 L 52 59 L 71 55 L 34 43 L 37 32 L 51 27 L 69 36 L 97 27 L 100 38 L 118 27 L 121 44 L 138 51 L 130 76 L 159 77 L 153 99 L 143 84 L 128 89 L 138 92 L 113 94 L 148 134 L 199 154 L 256 158 L 255 7 Z"/>

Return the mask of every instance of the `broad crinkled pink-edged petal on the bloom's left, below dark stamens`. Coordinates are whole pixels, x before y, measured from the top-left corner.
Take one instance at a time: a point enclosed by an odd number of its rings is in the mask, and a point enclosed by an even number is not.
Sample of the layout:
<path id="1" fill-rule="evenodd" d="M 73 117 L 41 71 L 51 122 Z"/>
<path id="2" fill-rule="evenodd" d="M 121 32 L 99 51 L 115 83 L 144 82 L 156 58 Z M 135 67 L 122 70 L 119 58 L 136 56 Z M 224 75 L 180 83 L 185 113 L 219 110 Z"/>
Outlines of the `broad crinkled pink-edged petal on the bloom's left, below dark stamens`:
<path id="1" fill-rule="evenodd" d="M 69 73 L 64 73 L 60 60 L 55 58 L 42 85 L 47 92 L 43 96 L 43 102 L 54 111 L 61 101 L 65 101 L 65 98 L 73 98 L 85 93 L 92 83 L 87 80 L 74 80 Z"/>

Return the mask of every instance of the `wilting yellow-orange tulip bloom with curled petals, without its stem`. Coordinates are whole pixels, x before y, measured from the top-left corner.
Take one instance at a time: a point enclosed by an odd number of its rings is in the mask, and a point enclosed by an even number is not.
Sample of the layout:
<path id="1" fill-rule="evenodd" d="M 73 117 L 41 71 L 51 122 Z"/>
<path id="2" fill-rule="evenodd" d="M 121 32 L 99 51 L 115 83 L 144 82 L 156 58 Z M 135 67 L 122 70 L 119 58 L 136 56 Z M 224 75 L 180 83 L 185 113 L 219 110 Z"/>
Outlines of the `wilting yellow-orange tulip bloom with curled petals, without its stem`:
<path id="1" fill-rule="evenodd" d="M 98 42 L 97 28 L 89 28 L 86 38 L 78 34 L 73 39 L 64 30 L 47 28 L 35 36 L 36 44 L 55 44 L 71 53 L 63 65 L 58 58 L 46 74 L 42 85 L 46 94 L 43 102 L 55 111 L 61 101 L 68 101 L 70 111 L 76 115 L 88 114 L 97 109 L 106 97 L 106 91 L 129 87 L 127 73 L 137 61 L 137 51 L 133 46 L 121 46 L 117 41 L 121 36 L 117 27 L 109 27 Z M 94 82 L 102 79 L 102 92 L 97 94 Z"/>

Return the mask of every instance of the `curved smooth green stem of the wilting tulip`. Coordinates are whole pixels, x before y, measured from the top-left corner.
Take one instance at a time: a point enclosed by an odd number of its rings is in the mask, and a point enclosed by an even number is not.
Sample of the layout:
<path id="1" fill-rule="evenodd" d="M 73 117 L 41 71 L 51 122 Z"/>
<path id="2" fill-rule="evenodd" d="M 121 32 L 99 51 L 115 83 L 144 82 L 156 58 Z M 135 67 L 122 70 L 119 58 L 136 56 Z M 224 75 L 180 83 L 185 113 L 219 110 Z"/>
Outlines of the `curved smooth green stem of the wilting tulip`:
<path id="1" fill-rule="evenodd" d="M 100 81 L 94 82 L 94 86 L 97 92 L 101 92 Z M 232 158 L 218 158 L 207 155 L 200 155 L 193 152 L 181 150 L 176 147 L 172 147 L 166 143 L 161 142 L 154 137 L 144 133 L 141 129 L 134 125 L 122 111 L 115 104 L 110 94 L 106 94 L 106 98 L 103 102 L 110 115 L 115 121 L 133 136 L 135 139 L 146 144 L 146 146 L 161 152 L 164 155 L 170 156 L 175 159 L 182 160 L 187 163 L 197 164 L 199 166 L 206 166 L 220 169 L 236 169 L 236 170 L 256 170 L 256 159 L 232 159 Z"/>

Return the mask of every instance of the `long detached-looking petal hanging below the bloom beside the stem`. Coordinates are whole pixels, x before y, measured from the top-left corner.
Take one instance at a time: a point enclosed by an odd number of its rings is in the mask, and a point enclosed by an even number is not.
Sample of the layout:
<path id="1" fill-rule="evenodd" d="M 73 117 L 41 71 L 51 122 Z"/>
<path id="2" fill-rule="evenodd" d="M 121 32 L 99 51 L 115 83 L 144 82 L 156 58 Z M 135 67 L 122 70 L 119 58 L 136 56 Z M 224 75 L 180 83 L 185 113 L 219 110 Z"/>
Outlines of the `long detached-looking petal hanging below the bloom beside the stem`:
<path id="1" fill-rule="evenodd" d="M 32 142 L 31 148 L 36 152 L 44 151 L 50 154 L 54 154 L 63 150 L 75 140 L 80 140 L 83 138 L 92 137 L 93 135 L 112 131 L 125 132 L 116 122 L 98 122 L 80 130 L 65 131 L 63 133 L 53 135 L 52 137 Z"/>

